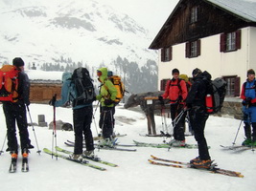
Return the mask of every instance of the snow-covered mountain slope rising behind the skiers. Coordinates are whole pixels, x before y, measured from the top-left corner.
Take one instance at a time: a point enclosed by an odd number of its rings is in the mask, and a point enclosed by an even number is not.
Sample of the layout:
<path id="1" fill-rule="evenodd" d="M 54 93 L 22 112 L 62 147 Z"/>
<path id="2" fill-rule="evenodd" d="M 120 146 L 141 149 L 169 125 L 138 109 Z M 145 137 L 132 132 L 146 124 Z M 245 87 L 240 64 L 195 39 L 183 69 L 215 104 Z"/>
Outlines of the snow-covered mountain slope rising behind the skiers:
<path id="1" fill-rule="evenodd" d="M 48 63 L 63 70 L 67 63 L 61 60 L 70 59 L 70 64 L 80 63 L 91 73 L 107 67 L 126 77 L 132 92 L 156 89 L 157 53 L 148 50 L 151 38 L 147 29 L 127 14 L 96 0 L 2 0 L 0 6 L 1 63 L 21 56 L 37 69 Z M 133 86 L 137 84 L 128 82 L 133 81 L 128 77 L 134 71 L 151 84 L 136 90 Z"/>

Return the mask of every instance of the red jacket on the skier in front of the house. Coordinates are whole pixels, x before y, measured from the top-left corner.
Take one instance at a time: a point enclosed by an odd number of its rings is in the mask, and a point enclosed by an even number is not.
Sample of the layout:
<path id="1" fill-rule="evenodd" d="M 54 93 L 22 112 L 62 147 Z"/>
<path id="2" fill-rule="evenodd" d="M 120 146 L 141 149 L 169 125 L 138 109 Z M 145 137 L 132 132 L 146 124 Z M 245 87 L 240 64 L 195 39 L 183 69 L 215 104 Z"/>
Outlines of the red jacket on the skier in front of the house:
<path id="1" fill-rule="evenodd" d="M 186 82 L 182 79 L 171 79 L 167 82 L 163 98 L 169 98 L 170 103 L 176 103 L 178 97 L 181 96 L 185 100 L 188 96 L 188 89 Z"/>

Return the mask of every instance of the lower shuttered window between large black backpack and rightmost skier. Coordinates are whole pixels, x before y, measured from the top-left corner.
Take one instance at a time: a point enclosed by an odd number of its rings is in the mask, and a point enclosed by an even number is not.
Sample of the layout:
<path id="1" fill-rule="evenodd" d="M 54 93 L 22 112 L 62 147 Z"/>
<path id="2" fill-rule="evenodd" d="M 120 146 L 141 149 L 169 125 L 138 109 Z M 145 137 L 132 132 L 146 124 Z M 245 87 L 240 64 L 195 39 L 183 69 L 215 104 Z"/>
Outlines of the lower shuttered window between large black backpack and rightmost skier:
<path id="1" fill-rule="evenodd" d="M 240 77 L 223 76 L 223 79 L 227 83 L 226 96 L 240 96 Z"/>

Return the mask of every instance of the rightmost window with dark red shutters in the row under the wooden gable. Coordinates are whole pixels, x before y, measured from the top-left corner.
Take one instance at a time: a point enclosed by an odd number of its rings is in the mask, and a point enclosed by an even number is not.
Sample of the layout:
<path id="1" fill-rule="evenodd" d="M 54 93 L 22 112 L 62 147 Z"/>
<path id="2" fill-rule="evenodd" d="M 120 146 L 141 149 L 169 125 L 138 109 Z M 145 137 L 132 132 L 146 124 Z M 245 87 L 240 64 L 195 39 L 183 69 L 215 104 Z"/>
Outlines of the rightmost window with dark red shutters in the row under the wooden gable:
<path id="1" fill-rule="evenodd" d="M 221 52 L 232 52 L 241 49 L 241 30 L 221 33 Z"/>

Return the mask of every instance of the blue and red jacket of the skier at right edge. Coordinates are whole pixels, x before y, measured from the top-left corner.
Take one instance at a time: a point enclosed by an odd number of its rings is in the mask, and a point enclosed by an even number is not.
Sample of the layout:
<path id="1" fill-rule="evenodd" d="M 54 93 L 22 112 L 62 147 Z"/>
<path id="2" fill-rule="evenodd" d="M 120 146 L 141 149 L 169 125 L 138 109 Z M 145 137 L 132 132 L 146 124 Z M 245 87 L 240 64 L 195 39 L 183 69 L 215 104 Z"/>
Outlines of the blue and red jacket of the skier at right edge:
<path id="1" fill-rule="evenodd" d="M 246 99 L 246 98 L 251 98 L 251 103 L 256 103 L 256 87 L 255 87 L 255 79 L 252 81 L 249 81 L 246 79 L 242 86 L 242 92 L 241 92 L 241 98 Z"/>

